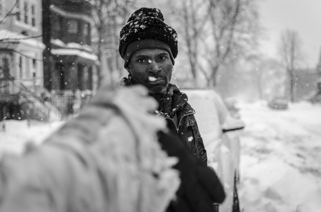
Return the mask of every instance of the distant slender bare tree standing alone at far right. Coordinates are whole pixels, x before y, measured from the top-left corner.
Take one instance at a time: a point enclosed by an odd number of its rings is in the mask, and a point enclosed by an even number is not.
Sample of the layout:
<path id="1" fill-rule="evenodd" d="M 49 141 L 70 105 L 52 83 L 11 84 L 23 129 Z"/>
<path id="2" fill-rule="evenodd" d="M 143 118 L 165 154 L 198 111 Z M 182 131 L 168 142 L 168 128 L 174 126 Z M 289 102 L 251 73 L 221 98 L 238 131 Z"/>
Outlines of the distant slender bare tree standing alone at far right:
<path id="1" fill-rule="evenodd" d="M 287 29 L 282 32 L 279 53 L 289 78 L 290 100 L 294 102 L 295 72 L 303 61 L 302 41 L 296 31 Z"/>

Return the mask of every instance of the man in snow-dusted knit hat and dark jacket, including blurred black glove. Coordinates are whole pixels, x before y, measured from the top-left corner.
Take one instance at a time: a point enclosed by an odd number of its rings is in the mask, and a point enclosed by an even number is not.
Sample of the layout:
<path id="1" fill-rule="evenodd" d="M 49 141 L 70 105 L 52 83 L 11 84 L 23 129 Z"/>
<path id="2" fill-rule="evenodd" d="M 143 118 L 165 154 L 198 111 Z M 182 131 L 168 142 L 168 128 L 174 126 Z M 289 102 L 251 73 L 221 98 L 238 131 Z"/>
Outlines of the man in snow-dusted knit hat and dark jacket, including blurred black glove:
<path id="1" fill-rule="evenodd" d="M 171 202 L 167 211 L 213 211 L 213 207 L 209 207 L 213 200 L 221 203 L 225 198 L 223 187 L 216 174 L 207 168 L 207 155 L 195 121 L 195 110 L 187 103 L 187 95 L 181 93 L 176 85 L 169 83 L 178 54 L 175 29 L 164 23 L 159 9 L 143 7 L 129 17 L 120 31 L 119 41 L 119 53 L 129 73 L 120 83 L 125 86 L 139 84 L 147 88 L 147 92 L 158 103 L 155 115 L 164 117 L 169 134 L 175 135 L 180 144 L 184 144 L 186 149 L 197 156 L 200 167 L 208 171 L 195 178 L 195 161 L 185 160 L 189 154 L 181 157 L 176 166 L 181 174 L 177 201 Z M 174 147 L 175 139 L 167 136 L 168 134 L 159 136 L 162 148 L 169 156 L 179 155 Z M 202 177 L 206 179 L 201 179 Z M 209 184 L 205 183 L 205 187 L 198 187 L 195 182 L 207 182 L 213 186 L 209 188 Z M 216 198 L 211 200 L 209 197 L 212 195 Z"/>

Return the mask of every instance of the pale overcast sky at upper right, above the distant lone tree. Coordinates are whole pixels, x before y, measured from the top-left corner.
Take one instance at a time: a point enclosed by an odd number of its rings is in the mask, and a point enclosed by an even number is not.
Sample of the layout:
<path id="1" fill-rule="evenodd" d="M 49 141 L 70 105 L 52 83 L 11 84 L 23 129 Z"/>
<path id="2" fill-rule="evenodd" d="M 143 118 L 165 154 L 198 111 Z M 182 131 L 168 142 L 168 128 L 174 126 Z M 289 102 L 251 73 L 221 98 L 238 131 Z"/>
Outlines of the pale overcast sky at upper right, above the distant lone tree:
<path id="1" fill-rule="evenodd" d="M 259 4 L 262 25 L 266 28 L 266 41 L 262 50 L 276 55 L 281 32 L 295 30 L 303 42 L 307 65 L 314 68 L 321 49 L 321 0 L 261 0 Z"/>

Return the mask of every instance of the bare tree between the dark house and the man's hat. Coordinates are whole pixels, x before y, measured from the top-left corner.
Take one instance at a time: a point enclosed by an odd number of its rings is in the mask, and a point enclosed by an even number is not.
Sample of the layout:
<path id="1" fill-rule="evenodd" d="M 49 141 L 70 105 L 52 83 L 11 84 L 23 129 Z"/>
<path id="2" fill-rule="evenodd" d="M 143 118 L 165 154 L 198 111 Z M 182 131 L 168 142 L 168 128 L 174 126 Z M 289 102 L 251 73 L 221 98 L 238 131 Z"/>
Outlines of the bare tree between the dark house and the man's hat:
<path id="1" fill-rule="evenodd" d="M 118 53 L 119 31 L 125 24 L 134 0 L 91 0 L 92 17 L 97 31 L 95 44 L 101 62 L 98 70 L 99 84 L 108 75 L 113 81 L 114 72 L 122 69 Z M 104 69 L 108 70 L 104 70 Z M 107 73 L 106 73 L 107 72 Z"/>

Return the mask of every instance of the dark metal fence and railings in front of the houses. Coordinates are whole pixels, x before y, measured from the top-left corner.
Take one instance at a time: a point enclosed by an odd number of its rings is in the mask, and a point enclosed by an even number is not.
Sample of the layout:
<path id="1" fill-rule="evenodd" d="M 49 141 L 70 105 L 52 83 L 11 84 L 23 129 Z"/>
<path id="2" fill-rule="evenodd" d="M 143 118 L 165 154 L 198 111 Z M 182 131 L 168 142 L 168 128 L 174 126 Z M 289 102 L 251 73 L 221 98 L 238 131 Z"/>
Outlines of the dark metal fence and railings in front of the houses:
<path id="1" fill-rule="evenodd" d="M 4 119 L 35 119 L 39 121 L 67 120 L 79 113 L 91 94 L 81 92 L 50 95 L 0 94 L 0 121 Z"/>

